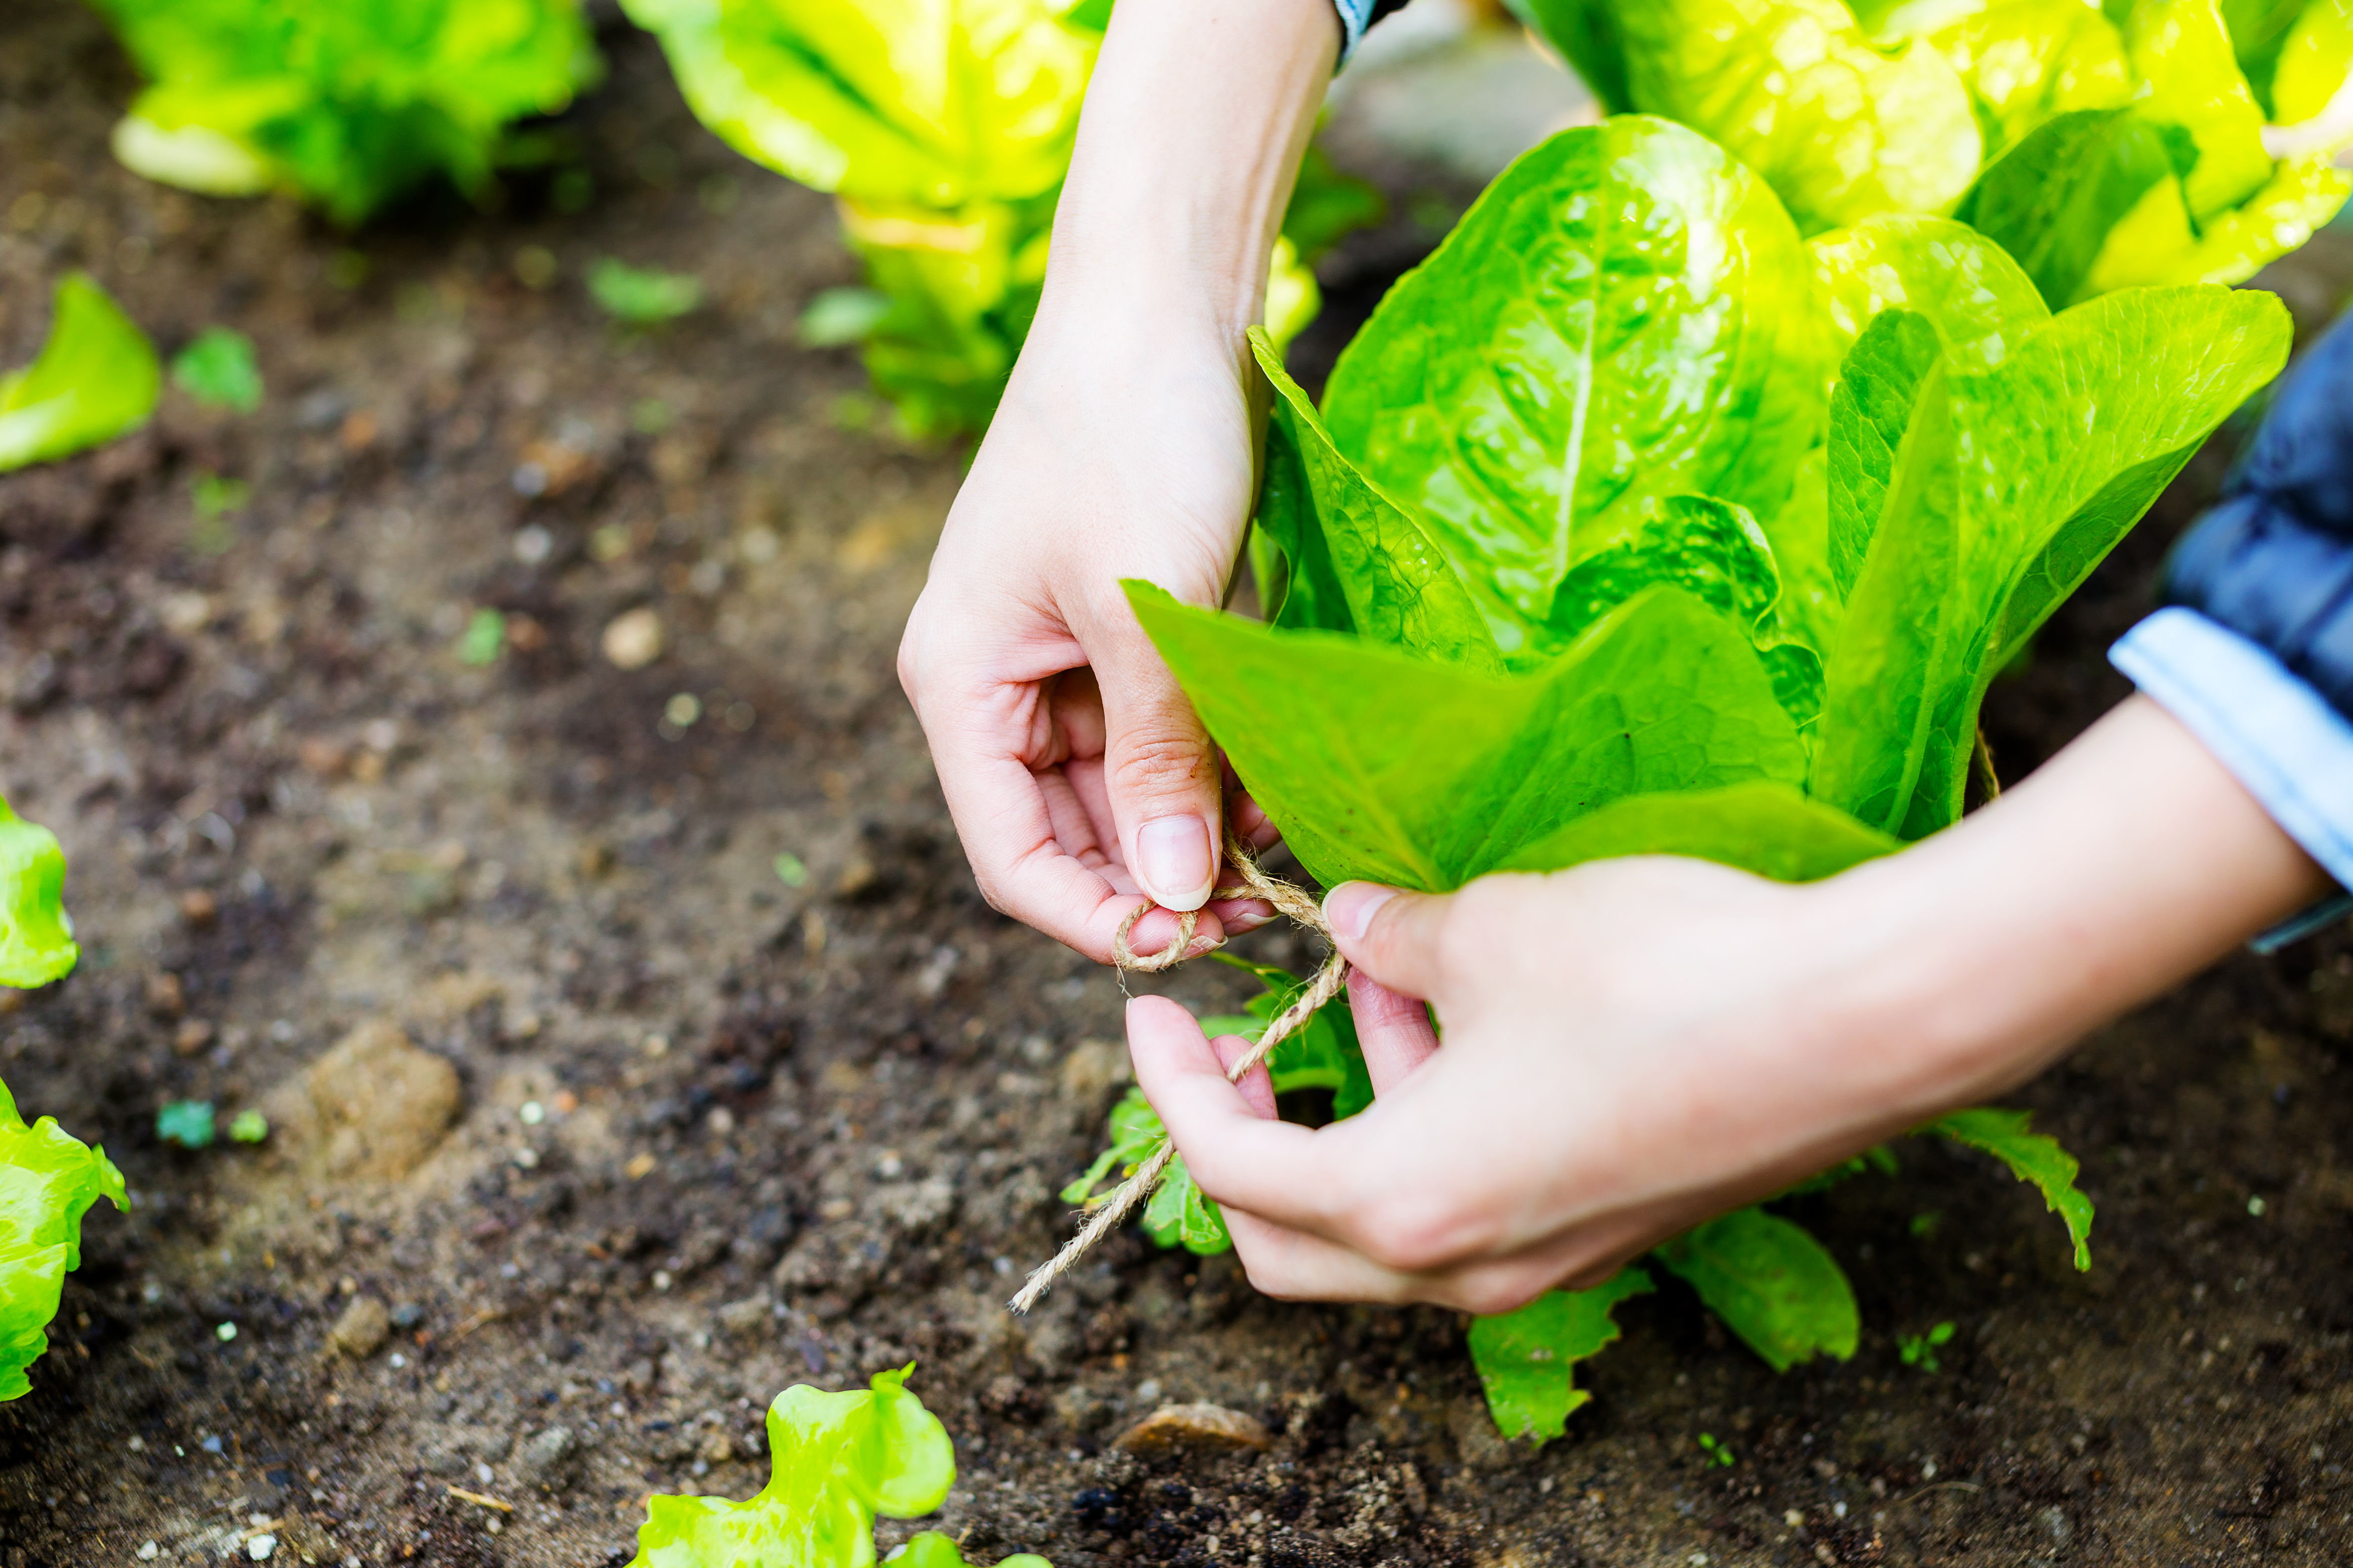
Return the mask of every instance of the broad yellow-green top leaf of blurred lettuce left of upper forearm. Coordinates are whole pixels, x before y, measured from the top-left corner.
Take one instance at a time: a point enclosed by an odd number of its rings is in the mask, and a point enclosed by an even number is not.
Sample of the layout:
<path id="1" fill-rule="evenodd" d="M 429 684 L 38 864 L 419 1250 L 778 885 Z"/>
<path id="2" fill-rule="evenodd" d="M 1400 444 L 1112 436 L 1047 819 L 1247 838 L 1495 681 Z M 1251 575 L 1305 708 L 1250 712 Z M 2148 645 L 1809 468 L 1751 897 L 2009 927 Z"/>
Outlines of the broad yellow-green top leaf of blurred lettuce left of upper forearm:
<path id="1" fill-rule="evenodd" d="M 1052 193 L 1101 35 L 1047 0 L 624 0 L 694 118 L 875 207 Z"/>

